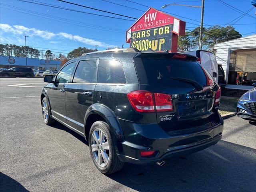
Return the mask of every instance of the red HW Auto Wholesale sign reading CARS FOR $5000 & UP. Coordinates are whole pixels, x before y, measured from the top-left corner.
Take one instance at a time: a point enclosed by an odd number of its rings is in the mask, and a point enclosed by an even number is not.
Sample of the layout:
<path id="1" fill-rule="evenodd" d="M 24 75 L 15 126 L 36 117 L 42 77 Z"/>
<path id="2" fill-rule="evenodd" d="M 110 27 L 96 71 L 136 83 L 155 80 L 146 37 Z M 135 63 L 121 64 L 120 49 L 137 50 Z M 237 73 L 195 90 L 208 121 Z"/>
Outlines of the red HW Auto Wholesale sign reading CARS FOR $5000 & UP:
<path id="1" fill-rule="evenodd" d="M 140 51 L 177 52 L 178 35 L 185 35 L 186 23 L 149 8 L 127 31 L 126 42 Z"/>

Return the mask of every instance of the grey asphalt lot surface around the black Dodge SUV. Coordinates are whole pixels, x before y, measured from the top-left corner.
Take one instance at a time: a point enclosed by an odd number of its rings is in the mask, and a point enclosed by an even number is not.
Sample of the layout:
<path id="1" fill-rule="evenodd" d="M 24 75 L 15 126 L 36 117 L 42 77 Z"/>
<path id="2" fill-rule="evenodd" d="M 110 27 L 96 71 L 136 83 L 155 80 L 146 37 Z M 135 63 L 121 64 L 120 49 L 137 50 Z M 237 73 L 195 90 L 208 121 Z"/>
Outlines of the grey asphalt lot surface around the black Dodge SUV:
<path id="1" fill-rule="evenodd" d="M 126 164 L 101 174 L 84 138 L 61 124 L 46 126 L 43 79 L 0 78 L 0 191 L 241 191 L 256 190 L 256 124 L 224 120 L 215 146 L 162 167 Z"/>

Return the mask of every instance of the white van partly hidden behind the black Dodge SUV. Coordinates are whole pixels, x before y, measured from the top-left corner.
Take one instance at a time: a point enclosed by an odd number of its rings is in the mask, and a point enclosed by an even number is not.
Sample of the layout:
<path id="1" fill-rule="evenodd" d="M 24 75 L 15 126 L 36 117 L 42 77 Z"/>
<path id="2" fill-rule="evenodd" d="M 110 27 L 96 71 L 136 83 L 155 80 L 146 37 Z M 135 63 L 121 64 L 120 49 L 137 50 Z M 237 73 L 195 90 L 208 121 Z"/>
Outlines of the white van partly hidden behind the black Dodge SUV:
<path id="1" fill-rule="evenodd" d="M 216 61 L 214 54 L 204 50 L 184 51 L 180 53 L 196 56 L 198 58 L 198 62 L 202 66 L 204 66 L 204 68 L 210 73 L 210 75 L 218 83 L 218 76 L 219 76 L 218 63 Z"/>

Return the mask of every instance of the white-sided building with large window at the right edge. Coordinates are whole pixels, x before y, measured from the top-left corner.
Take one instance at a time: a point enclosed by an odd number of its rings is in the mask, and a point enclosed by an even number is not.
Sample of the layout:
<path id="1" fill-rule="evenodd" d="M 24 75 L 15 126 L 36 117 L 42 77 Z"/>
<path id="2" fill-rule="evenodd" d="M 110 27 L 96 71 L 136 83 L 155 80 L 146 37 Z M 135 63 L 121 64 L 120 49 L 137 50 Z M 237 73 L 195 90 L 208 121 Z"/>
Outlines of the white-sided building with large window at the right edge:
<path id="1" fill-rule="evenodd" d="M 216 60 L 222 64 L 227 86 L 222 95 L 240 96 L 256 82 L 256 34 L 218 43 Z M 237 95 L 236 95 L 237 94 Z"/>

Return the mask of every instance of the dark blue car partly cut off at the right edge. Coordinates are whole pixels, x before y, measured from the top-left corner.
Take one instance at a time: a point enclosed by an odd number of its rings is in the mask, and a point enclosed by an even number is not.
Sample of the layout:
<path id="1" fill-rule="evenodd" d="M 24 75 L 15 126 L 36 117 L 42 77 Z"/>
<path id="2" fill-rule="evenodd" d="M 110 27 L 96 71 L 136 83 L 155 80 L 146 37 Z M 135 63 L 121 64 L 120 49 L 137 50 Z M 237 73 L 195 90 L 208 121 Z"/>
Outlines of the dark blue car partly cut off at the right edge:
<path id="1" fill-rule="evenodd" d="M 239 99 L 236 112 L 238 117 L 256 122 L 256 83 L 252 86 L 254 88 L 243 94 Z"/>

